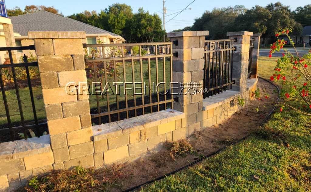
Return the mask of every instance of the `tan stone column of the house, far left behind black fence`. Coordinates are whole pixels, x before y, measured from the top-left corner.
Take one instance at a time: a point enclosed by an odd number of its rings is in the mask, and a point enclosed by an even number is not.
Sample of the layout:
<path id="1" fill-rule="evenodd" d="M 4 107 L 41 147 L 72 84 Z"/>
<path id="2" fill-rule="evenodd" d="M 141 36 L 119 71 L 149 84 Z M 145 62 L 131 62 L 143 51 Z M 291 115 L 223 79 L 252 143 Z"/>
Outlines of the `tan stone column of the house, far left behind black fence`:
<path id="1" fill-rule="evenodd" d="M 4 38 L 5 38 L 5 44 L 7 47 L 14 47 L 16 46 L 15 44 L 15 38 L 14 38 L 14 31 L 13 31 L 13 25 L 12 24 L 2 24 L 3 26 L 3 33 L 4 33 Z M 12 58 L 14 63 L 19 63 L 19 59 L 16 56 L 16 51 L 12 51 Z M 5 54 L 5 58 L 9 58 L 8 54 Z"/>

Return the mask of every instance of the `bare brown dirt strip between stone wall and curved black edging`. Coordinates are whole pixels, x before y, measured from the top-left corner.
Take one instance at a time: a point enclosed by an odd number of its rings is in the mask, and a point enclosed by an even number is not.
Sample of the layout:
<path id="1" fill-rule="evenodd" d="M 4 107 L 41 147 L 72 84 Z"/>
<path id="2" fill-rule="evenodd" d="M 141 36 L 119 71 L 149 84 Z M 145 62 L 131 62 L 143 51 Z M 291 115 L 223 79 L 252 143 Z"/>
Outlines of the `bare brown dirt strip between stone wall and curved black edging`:
<path id="1" fill-rule="evenodd" d="M 270 97 L 278 98 L 278 93 L 273 93 L 273 90 L 276 88 L 269 82 L 259 79 L 257 87 L 261 91 L 267 91 Z M 265 107 L 262 105 L 265 105 Z M 258 125 L 263 122 L 273 109 L 273 106 L 268 99 L 262 98 L 260 101 L 252 99 L 242 110 L 236 112 L 229 119 L 221 122 L 221 124 L 214 125 L 204 131 L 195 132 L 188 139 L 196 153 L 184 157 L 176 156 L 175 160 L 173 160 L 169 155 L 169 150 L 164 148 L 161 152 L 150 152 L 134 162 L 119 164 L 117 171 L 114 171 L 116 165 L 97 169 L 95 170 L 96 175 L 93 174 L 94 179 L 112 181 L 107 182 L 107 188 L 104 191 L 123 191 L 149 180 L 154 180 L 194 162 L 202 155 L 210 154 L 247 136 L 257 129 Z M 259 111 L 256 112 L 255 108 L 258 108 Z M 107 171 L 108 169 L 110 171 Z M 122 177 L 118 179 L 118 176 Z M 95 186 L 88 191 L 98 190 Z"/>

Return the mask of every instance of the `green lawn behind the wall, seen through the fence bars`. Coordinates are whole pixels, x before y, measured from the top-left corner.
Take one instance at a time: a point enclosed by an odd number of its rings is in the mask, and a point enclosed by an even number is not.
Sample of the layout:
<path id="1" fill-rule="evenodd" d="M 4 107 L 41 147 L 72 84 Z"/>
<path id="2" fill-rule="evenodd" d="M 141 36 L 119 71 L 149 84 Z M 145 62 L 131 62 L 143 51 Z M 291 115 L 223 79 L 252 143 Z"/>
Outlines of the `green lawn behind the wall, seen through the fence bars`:
<path id="1" fill-rule="evenodd" d="M 155 86 L 156 86 L 156 67 L 155 67 L 155 60 L 151 60 L 150 64 L 151 66 L 154 65 L 154 67 L 151 67 L 151 85 L 154 82 Z M 126 70 L 126 82 L 132 82 L 132 69 L 129 67 L 130 62 L 125 62 L 125 70 Z M 135 71 L 135 81 L 136 82 L 140 82 L 141 81 L 141 77 L 140 77 L 140 66 L 139 66 L 139 61 L 136 64 L 137 67 L 137 71 Z M 142 62 L 142 71 L 146 71 L 146 69 L 148 69 L 148 61 L 143 61 Z M 89 69 L 87 69 L 89 70 Z M 123 66 L 119 66 L 118 70 L 120 71 L 120 73 L 123 73 Z M 170 82 L 170 61 L 165 60 L 165 80 L 166 82 Z M 163 73 L 163 60 L 158 59 L 158 77 L 159 80 L 158 82 L 163 82 L 164 81 L 164 73 Z M 118 77 L 117 81 L 119 82 L 123 82 L 124 78 L 123 78 L 123 74 Z M 95 82 L 94 77 L 93 78 L 88 78 L 88 82 L 91 85 L 91 82 Z M 111 85 L 112 89 L 114 89 L 115 87 L 112 85 L 112 82 L 114 82 L 114 77 L 113 78 L 108 78 L 108 82 Z M 149 80 L 148 77 L 143 75 L 143 82 L 146 82 L 146 93 L 144 93 L 144 95 L 149 95 L 149 90 L 148 87 L 152 87 L 149 86 Z M 104 82 L 105 83 L 105 82 Z M 132 84 L 127 84 L 127 88 L 133 87 Z M 141 87 L 141 84 L 137 84 L 136 87 Z M 156 89 L 156 88 L 154 88 Z M 168 88 L 167 88 L 168 89 Z M 159 91 L 163 91 L 164 87 L 159 86 Z M 119 98 L 119 102 L 124 101 L 125 97 L 124 97 L 124 87 L 121 87 L 120 91 L 120 95 L 118 96 Z M 138 93 L 141 93 L 141 91 L 139 89 L 136 90 Z M 21 121 L 21 116 L 20 116 L 20 111 L 18 108 L 18 103 L 17 103 L 17 98 L 16 98 L 16 91 L 14 89 L 11 90 L 7 90 L 6 92 L 6 96 L 7 96 L 7 103 L 8 103 L 8 108 L 9 108 L 9 113 L 10 113 L 10 117 L 11 117 L 11 121 L 12 122 L 20 122 Z M 20 97 L 21 97 L 21 105 L 22 105 L 22 111 L 23 111 L 23 115 L 24 115 L 24 119 L 25 121 L 29 121 L 29 120 L 33 120 L 34 119 L 34 115 L 33 115 L 33 111 L 32 111 L 32 105 L 31 105 L 31 101 L 30 101 L 30 93 L 29 93 L 29 88 L 22 88 L 19 89 L 20 92 Z M 115 91 L 114 91 L 115 92 Z M 34 98 L 35 98 L 35 107 L 36 107 L 36 112 L 37 112 L 37 117 L 40 118 L 45 118 L 46 114 L 45 114 L 45 109 L 44 109 L 44 102 L 43 102 L 43 98 L 42 98 L 42 89 L 41 86 L 39 87 L 33 87 L 33 94 L 34 94 Z M 133 99 L 133 91 L 132 90 L 128 90 L 127 91 L 128 94 L 128 100 Z M 136 96 L 141 97 L 141 95 Z M 0 92 L 0 98 L 2 98 L 2 93 Z M 96 95 L 90 95 L 89 96 L 89 101 L 90 101 L 90 108 L 97 108 L 97 101 L 96 101 Z M 100 96 L 100 106 L 104 107 L 104 109 L 107 108 L 107 100 L 106 100 L 106 96 L 101 97 Z M 116 96 L 115 95 L 109 95 L 109 103 L 110 105 L 116 103 Z M 104 112 L 106 110 L 102 110 L 101 112 Z M 7 124 L 7 116 L 6 116 L 6 111 L 4 108 L 4 104 L 3 102 L 0 103 L 0 124 Z"/>

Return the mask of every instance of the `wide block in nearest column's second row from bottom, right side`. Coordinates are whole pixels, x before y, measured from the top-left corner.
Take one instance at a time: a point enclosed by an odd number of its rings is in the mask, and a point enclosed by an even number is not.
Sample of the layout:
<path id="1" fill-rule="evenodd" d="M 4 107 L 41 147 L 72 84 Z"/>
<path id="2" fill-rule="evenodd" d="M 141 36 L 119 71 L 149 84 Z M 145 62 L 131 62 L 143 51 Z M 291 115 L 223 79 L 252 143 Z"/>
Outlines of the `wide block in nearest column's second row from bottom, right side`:
<path id="1" fill-rule="evenodd" d="M 87 142 L 87 143 L 81 143 L 81 144 L 69 146 L 70 159 L 76 159 L 78 157 L 91 155 L 93 153 L 94 153 L 93 142 Z"/>

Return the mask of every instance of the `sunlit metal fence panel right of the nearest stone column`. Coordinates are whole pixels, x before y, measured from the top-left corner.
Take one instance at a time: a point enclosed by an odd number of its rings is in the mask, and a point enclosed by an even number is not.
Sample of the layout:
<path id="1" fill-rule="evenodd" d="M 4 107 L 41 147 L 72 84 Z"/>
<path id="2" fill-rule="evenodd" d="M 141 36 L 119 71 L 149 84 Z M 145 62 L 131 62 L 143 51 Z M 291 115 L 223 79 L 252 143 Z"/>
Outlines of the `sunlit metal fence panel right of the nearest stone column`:
<path id="1" fill-rule="evenodd" d="M 91 49 L 85 59 L 91 68 L 86 69 L 90 73 L 88 81 L 99 82 L 100 91 L 105 92 L 101 96 L 96 94 L 93 107 L 90 103 L 93 123 L 110 123 L 172 108 L 174 100 L 172 95 L 169 96 L 167 86 L 162 84 L 154 88 L 160 82 L 167 81 L 168 85 L 172 82 L 171 45 L 172 42 L 83 44 L 85 49 Z M 107 93 L 107 83 L 110 82 L 124 85 L 120 94 Z M 141 86 L 138 87 L 142 88 L 141 94 L 135 94 L 137 85 L 134 86 L 134 82 Z M 116 93 L 117 86 L 112 90 Z"/>

